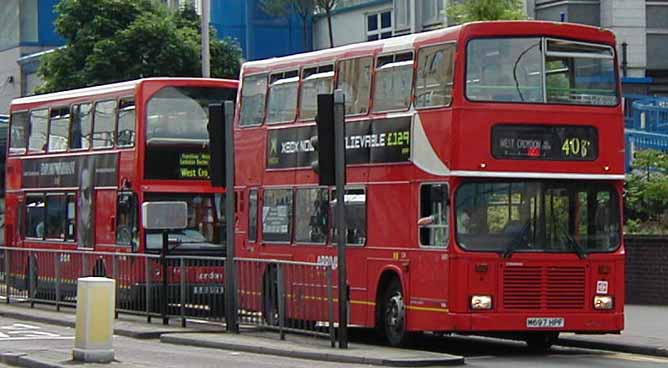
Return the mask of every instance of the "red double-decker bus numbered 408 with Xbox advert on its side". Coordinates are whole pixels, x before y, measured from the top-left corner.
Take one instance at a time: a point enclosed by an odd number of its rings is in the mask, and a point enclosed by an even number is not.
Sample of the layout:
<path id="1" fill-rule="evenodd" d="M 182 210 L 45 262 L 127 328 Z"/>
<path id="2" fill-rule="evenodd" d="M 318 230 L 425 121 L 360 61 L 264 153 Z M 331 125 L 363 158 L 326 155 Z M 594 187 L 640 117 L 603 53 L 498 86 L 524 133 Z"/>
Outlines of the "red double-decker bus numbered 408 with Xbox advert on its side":
<path id="1" fill-rule="evenodd" d="M 237 253 L 336 264 L 335 196 L 309 139 L 316 96 L 341 89 L 352 324 L 393 345 L 419 331 L 539 348 L 560 332 L 619 333 L 617 70 L 611 32 L 537 21 L 246 63 Z"/>

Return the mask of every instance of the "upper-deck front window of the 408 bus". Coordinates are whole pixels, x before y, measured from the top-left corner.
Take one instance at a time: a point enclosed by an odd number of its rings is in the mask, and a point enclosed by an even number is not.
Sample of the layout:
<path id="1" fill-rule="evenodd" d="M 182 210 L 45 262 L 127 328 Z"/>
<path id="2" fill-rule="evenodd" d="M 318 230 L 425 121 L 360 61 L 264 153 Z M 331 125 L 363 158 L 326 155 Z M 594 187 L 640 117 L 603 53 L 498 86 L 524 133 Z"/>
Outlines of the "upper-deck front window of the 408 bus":
<path id="1" fill-rule="evenodd" d="M 467 46 L 466 96 L 472 101 L 614 106 L 610 46 L 551 38 L 485 38 Z"/>

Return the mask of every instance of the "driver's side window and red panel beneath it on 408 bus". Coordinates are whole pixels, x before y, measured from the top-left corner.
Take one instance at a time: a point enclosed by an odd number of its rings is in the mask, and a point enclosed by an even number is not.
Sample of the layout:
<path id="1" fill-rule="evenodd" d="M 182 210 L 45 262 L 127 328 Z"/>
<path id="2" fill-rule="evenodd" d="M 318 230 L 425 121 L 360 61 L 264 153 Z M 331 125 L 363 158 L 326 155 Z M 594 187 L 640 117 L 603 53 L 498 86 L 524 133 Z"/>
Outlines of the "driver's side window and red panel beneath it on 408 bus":
<path id="1" fill-rule="evenodd" d="M 417 228 L 420 250 L 412 257 L 408 306 L 413 315 L 413 318 L 409 317 L 410 324 L 419 329 L 433 329 L 434 317 L 444 317 L 448 310 L 448 192 L 446 183 L 424 183 L 419 188 Z"/>

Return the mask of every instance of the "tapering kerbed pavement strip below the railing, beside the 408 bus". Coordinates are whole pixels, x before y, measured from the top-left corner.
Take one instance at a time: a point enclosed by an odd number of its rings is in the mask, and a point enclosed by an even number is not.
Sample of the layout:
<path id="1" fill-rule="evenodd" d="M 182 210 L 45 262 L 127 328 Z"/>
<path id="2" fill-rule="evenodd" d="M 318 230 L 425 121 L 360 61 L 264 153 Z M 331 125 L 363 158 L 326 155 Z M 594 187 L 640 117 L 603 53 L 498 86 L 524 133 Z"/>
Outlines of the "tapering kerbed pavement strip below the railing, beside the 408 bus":
<path id="1" fill-rule="evenodd" d="M 390 367 L 429 367 L 464 364 L 461 356 L 419 350 L 405 350 L 375 345 L 349 344 L 348 349 L 335 349 L 321 338 L 289 340 L 267 338 L 262 333 L 190 333 L 165 334 L 160 341 L 170 344 L 245 351 L 318 361 L 372 364 Z"/>

